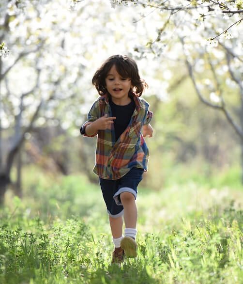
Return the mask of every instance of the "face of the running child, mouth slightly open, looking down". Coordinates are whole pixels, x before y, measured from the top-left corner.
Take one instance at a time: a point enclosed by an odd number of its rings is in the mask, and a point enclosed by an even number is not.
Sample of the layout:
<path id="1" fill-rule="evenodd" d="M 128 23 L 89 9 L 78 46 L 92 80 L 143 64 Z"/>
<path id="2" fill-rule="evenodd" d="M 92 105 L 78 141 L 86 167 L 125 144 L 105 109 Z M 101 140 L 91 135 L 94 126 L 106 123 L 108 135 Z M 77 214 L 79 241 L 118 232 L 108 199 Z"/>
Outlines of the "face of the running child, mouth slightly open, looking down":
<path id="1" fill-rule="evenodd" d="M 117 104 L 128 104 L 131 100 L 128 93 L 132 88 L 131 79 L 122 78 L 113 65 L 106 75 L 106 89 L 112 101 Z"/>

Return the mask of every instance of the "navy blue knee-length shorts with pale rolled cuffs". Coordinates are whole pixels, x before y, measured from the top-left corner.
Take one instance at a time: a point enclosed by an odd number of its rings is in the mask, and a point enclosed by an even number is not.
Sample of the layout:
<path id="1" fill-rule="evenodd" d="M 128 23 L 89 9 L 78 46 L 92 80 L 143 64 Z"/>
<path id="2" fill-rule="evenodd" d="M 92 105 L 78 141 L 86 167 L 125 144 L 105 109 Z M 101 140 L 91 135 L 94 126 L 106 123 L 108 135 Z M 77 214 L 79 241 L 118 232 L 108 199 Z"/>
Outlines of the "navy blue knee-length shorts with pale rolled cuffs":
<path id="1" fill-rule="evenodd" d="M 137 197 L 137 186 L 142 180 L 144 169 L 133 167 L 127 174 L 119 179 L 103 179 L 100 177 L 100 187 L 106 203 L 107 213 L 118 218 L 123 215 L 120 194 L 131 192 Z"/>

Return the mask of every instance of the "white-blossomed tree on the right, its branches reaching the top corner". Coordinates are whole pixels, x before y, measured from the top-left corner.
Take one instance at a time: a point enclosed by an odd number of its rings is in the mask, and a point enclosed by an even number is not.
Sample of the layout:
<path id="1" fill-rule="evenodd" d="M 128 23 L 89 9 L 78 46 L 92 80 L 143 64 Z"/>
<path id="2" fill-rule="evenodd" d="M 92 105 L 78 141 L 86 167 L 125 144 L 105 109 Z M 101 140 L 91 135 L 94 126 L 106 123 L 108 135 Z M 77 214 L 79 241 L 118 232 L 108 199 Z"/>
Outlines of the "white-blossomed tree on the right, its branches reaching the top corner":
<path id="1" fill-rule="evenodd" d="M 156 36 L 136 51 L 184 70 L 179 76 L 189 75 L 199 99 L 224 113 L 240 137 L 243 180 L 243 1 L 111 1 L 131 3 L 161 20 Z"/>

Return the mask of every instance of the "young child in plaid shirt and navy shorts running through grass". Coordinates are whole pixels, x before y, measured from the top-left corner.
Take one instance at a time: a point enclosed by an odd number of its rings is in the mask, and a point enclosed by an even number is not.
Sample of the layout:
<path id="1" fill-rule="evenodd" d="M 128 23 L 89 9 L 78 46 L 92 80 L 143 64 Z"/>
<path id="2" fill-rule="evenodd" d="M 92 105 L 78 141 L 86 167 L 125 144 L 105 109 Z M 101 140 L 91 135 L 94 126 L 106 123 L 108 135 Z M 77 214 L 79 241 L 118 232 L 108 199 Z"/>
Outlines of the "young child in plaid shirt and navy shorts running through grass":
<path id="1" fill-rule="evenodd" d="M 80 131 L 88 137 L 98 134 L 93 171 L 99 175 L 109 214 L 115 246 L 112 263 L 120 263 L 124 256 L 137 256 L 135 200 L 137 186 L 148 167 L 149 150 L 143 137 L 152 137 L 152 112 L 149 104 L 139 99 L 147 84 L 140 79 L 135 61 L 127 56 L 109 57 L 94 74 L 92 83 L 100 97 Z"/>

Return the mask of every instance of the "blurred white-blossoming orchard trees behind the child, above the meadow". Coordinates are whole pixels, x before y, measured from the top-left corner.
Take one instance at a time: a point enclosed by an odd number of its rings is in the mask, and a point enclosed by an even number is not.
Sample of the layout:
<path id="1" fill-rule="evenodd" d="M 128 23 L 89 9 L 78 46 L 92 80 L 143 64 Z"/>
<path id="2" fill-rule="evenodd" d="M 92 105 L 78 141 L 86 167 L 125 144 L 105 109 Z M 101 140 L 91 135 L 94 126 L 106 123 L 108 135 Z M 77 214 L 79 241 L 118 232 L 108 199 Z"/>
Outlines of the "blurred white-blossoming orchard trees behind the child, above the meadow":
<path id="1" fill-rule="evenodd" d="M 23 163 L 96 180 L 95 141 L 79 126 L 97 97 L 91 76 L 114 53 L 134 57 L 150 86 L 153 188 L 178 164 L 211 175 L 240 149 L 243 164 L 242 2 L 102 3 L 1 2 L 1 202 L 10 184 L 21 195 Z"/>

